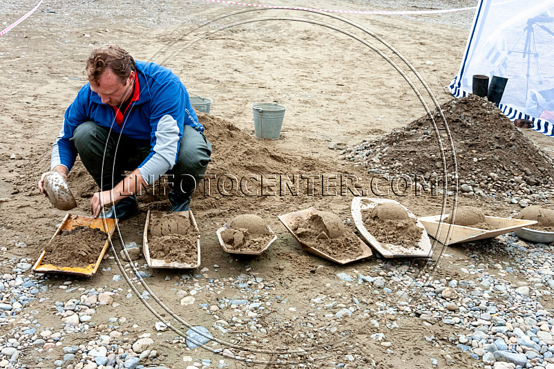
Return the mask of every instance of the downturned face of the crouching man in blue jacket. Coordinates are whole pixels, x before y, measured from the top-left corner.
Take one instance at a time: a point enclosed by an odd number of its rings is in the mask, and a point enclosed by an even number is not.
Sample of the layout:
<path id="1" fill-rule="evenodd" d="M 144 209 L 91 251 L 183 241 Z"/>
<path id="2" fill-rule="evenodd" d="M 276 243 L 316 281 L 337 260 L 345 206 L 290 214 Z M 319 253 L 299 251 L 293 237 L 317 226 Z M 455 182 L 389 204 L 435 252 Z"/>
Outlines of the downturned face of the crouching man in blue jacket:
<path id="1" fill-rule="evenodd" d="M 119 106 L 131 96 L 134 84 L 134 71 L 131 71 L 123 84 L 120 77 L 117 77 L 113 70 L 108 68 L 98 79 L 98 84 L 90 83 L 90 89 L 99 95 L 104 104 Z"/>

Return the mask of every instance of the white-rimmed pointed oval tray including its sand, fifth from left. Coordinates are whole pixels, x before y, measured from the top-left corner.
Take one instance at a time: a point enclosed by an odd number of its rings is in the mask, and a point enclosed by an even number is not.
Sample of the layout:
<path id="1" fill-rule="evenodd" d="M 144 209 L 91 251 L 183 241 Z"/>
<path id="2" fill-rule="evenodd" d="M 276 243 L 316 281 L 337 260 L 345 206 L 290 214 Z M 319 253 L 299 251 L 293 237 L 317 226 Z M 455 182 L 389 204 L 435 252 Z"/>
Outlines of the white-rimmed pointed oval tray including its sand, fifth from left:
<path id="1" fill-rule="evenodd" d="M 405 206 L 386 198 L 352 199 L 352 218 L 356 228 L 385 258 L 432 255 L 425 227 Z"/>

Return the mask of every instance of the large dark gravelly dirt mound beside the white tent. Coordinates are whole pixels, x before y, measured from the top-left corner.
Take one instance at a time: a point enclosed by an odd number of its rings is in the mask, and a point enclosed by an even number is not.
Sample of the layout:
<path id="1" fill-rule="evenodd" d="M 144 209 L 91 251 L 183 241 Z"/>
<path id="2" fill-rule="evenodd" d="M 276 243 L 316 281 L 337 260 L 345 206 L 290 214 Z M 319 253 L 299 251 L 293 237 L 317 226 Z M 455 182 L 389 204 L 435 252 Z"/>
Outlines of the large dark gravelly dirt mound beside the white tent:
<path id="1" fill-rule="evenodd" d="M 469 95 L 447 102 L 441 109 L 456 151 L 459 183 L 472 186 L 462 191 L 493 193 L 517 191 L 522 184 L 526 187 L 553 184 L 553 160 L 493 103 Z M 437 111 L 433 117 L 439 126 L 451 179 L 455 173 L 448 132 Z M 442 177 L 437 132 L 428 115 L 404 129 L 394 129 L 381 138 L 347 149 L 344 154 L 353 162 L 361 162 L 368 173 L 402 173 L 423 176 L 426 180 Z"/>

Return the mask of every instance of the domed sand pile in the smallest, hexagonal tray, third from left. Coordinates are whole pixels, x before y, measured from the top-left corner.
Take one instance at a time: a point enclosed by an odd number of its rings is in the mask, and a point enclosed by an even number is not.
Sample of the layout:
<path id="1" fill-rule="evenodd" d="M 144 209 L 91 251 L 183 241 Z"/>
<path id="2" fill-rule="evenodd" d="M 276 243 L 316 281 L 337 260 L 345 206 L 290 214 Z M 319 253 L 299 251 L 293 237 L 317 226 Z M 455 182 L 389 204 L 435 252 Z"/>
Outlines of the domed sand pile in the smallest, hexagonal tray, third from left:
<path id="1" fill-rule="evenodd" d="M 229 229 L 221 232 L 225 247 L 237 252 L 258 252 L 274 235 L 265 220 L 254 214 L 241 214 L 231 220 Z"/>

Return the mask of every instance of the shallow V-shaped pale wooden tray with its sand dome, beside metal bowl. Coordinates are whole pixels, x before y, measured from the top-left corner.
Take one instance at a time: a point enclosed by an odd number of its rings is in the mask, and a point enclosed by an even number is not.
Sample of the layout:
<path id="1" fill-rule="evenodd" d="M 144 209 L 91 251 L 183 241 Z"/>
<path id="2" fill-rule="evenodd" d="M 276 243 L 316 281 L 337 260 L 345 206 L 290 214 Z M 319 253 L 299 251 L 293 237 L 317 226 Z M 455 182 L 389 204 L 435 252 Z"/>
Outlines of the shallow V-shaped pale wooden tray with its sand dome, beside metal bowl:
<path id="1" fill-rule="evenodd" d="M 454 224 L 450 214 L 426 216 L 419 221 L 429 236 L 443 245 L 493 238 L 537 223 L 536 220 L 486 216 L 477 207 L 457 207 Z"/>

